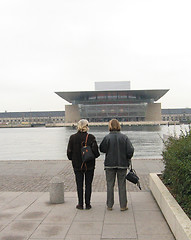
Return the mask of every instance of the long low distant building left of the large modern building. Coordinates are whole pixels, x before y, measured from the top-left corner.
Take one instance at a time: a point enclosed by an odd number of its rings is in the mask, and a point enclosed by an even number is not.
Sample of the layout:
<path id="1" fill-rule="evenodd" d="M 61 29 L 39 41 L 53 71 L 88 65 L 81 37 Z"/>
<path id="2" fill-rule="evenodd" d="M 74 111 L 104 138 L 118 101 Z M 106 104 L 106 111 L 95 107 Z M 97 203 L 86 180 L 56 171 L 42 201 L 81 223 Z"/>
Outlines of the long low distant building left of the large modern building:
<path id="1" fill-rule="evenodd" d="M 0 113 L 0 124 L 47 124 L 64 123 L 64 111 L 44 112 L 3 112 Z"/>

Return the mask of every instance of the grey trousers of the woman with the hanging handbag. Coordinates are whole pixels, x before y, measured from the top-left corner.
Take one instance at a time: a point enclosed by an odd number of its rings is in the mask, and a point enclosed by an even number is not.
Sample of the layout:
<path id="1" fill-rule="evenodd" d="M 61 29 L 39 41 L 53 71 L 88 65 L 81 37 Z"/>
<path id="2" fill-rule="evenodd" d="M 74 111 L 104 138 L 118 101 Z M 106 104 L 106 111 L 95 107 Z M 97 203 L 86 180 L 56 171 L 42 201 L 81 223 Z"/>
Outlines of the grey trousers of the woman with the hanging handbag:
<path id="1" fill-rule="evenodd" d="M 106 181 L 107 181 L 107 206 L 113 207 L 114 204 L 114 185 L 117 175 L 119 203 L 121 208 L 127 207 L 127 192 L 126 192 L 126 179 L 127 169 L 120 168 L 106 168 Z"/>

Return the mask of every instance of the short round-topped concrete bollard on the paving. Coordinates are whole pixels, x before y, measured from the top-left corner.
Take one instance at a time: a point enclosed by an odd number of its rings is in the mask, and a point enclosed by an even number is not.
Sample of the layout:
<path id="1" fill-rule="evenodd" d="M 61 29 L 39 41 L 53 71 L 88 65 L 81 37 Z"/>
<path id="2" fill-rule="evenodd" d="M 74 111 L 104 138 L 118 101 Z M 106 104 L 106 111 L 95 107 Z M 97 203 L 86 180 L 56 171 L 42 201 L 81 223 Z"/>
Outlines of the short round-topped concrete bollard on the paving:
<path id="1" fill-rule="evenodd" d="M 64 182 L 59 177 L 54 177 L 50 181 L 49 192 L 51 203 L 64 202 Z"/>

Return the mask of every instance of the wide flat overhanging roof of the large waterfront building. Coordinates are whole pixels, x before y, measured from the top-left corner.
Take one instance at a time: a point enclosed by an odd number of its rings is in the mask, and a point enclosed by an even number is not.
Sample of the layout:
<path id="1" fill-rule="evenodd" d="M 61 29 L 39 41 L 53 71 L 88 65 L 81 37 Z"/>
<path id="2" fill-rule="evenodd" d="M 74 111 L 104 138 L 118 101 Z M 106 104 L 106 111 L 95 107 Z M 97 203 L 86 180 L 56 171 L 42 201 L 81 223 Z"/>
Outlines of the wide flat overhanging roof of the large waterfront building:
<path id="1" fill-rule="evenodd" d="M 56 92 L 58 96 L 69 103 L 86 103 L 90 100 L 139 100 L 148 102 L 149 100 L 158 101 L 169 89 L 156 90 L 109 90 L 109 91 L 80 91 L 80 92 Z"/>

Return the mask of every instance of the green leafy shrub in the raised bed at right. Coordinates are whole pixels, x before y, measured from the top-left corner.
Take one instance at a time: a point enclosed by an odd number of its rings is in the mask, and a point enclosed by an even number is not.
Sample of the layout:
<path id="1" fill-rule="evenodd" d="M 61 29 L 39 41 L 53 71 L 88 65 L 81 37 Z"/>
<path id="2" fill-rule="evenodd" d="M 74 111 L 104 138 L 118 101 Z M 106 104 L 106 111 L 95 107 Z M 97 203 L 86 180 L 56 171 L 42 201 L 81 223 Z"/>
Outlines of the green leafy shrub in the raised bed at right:
<path id="1" fill-rule="evenodd" d="M 169 137 L 164 144 L 163 181 L 191 218 L 191 129 Z"/>

